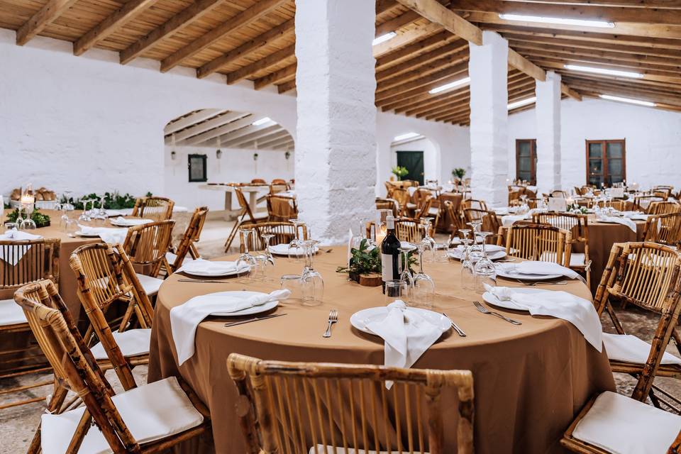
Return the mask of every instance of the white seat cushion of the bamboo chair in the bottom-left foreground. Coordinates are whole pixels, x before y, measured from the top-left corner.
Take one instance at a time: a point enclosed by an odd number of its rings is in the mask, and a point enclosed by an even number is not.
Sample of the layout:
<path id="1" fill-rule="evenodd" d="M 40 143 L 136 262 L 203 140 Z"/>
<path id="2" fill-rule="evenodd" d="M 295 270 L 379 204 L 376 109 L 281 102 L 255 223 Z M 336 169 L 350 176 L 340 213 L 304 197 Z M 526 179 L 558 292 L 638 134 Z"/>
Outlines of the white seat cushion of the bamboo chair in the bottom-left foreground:
<path id="1" fill-rule="evenodd" d="M 204 421 L 175 377 L 117 394 L 112 400 L 140 444 L 184 432 Z M 66 452 L 83 411 L 84 407 L 80 407 L 62 414 L 43 414 L 40 445 L 44 454 Z M 91 426 L 79 453 L 112 452 L 99 428 Z"/>

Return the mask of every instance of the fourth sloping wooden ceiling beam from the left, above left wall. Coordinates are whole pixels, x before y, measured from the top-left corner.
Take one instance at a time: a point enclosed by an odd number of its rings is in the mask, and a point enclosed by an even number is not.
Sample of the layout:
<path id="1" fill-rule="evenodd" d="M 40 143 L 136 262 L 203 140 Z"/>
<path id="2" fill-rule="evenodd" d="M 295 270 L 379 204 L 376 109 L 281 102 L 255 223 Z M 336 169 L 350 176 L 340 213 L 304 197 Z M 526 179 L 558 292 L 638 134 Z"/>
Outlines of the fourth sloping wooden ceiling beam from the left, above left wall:
<path id="1" fill-rule="evenodd" d="M 250 23 L 258 21 L 258 19 L 270 13 L 272 10 L 282 6 L 288 0 L 261 0 L 250 6 L 250 8 L 241 11 L 236 16 L 229 18 L 219 26 L 201 35 L 200 38 L 193 40 L 192 43 L 185 45 L 183 48 L 173 52 L 161 62 L 161 72 L 167 72 L 172 68 L 192 57 L 196 52 L 201 52 L 205 48 L 221 40 L 225 35 L 234 33 L 238 28 L 248 26 Z"/>

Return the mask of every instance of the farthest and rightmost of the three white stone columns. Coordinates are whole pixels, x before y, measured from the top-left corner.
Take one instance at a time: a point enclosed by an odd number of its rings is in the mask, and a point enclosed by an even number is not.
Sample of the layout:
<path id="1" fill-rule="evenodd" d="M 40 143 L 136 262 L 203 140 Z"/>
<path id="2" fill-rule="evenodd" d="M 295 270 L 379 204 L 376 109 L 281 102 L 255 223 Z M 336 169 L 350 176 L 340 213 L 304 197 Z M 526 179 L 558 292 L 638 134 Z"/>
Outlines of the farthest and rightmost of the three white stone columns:
<path id="1" fill-rule="evenodd" d="M 546 72 L 536 81 L 537 186 L 549 194 L 560 187 L 560 74 Z"/>

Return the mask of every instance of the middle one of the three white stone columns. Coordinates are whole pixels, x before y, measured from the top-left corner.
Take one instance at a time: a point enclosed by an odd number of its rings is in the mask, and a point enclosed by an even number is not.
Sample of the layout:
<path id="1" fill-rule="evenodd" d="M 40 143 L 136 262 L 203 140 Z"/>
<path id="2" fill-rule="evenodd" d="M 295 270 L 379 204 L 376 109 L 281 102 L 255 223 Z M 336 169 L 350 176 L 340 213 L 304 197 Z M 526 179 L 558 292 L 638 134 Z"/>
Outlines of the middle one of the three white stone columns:
<path id="1" fill-rule="evenodd" d="M 499 34 L 482 32 L 482 45 L 469 43 L 470 167 L 474 199 L 488 206 L 508 203 L 509 44 Z"/>

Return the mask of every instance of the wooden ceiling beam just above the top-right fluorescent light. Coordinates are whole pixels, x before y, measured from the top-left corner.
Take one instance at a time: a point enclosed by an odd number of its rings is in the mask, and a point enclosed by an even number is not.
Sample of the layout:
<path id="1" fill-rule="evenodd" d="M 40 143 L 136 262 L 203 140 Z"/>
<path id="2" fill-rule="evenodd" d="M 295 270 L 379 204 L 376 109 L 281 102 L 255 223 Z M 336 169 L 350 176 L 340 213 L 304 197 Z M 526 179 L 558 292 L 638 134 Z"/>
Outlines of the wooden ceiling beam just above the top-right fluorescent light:
<path id="1" fill-rule="evenodd" d="M 531 1 L 453 0 L 450 9 L 496 14 L 524 14 L 607 22 L 660 23 L 678 25 L 675 11 L 665 9 L 623 8 L 621 6 L 546 4 Z"/>

